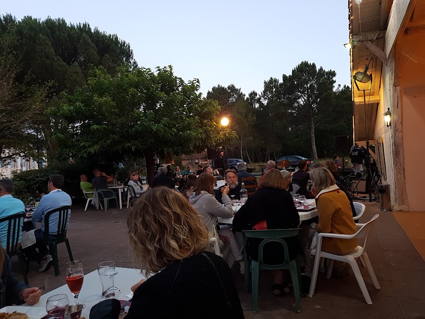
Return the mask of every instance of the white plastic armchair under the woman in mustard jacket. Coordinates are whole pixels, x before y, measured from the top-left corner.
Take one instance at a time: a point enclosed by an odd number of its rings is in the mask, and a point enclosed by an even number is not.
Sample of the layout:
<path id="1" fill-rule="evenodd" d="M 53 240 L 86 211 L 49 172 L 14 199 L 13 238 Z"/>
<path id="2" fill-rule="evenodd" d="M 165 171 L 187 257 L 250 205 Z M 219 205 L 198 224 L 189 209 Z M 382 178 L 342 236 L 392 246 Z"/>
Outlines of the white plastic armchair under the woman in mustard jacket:
<path id="1" fill-rule="evenodd" d="M 366 267 L 368 269 L 369 275 L 371 276 L 372 281 L 375 285 L 375 288 L 381 289 L 381 287 L 379 286 L 378 279 L 376 278 L 375 272 L 373 271 L 372 265 L 369 261 L 368 254 L 366 253 L 366 245 L 368 244 L 368 237 L 372 234 L 373 224 L 378 217 L 379 217 L 379 214 L 376 214 L 366 224 L 356 224 L 358 231 L 357 233 L 353 235 L 341 235 L 341 234 L 331 234 L 331 233 L 320 233 L 317 235 L 316 251 L 312 251 L 312 254 L 315 255 L 315 258 L 314 258 L 313 274 L 311 277 L 310 291 L 308 293 L 310 297 L 313 297 L 314 291 L 316 288 L 317 271 L 319 268 L 320 257 L 324 257 L 329 259 L 329 266 L 328 266 L 328 271 L 326 272 L 326 278 L 331 277 L 334 260 L 339 260 L 341 262 L 349 263 L 351 268 L 353 269 L 355 278 L 357 279 L 358 285 L 360 286 L 360 289 L 362 290 L 362 293 L 366 299 L 366 302 L 368 304 L 372 304 L 372 300 L 369 296 L 368 289 L 366 288 L 365 281 L 363 280 L 362 273 L 358 269 L 358 265 L 355 259 L 361 256 L 363 257 L 366 263 Z M 363 247 L 357 246 L 354 250 L 346 254 L 337 255 L 337 254 L 321 251 L 323 237 L 341 238 L 341 239 L 365 238 L 365 244 Z"/>

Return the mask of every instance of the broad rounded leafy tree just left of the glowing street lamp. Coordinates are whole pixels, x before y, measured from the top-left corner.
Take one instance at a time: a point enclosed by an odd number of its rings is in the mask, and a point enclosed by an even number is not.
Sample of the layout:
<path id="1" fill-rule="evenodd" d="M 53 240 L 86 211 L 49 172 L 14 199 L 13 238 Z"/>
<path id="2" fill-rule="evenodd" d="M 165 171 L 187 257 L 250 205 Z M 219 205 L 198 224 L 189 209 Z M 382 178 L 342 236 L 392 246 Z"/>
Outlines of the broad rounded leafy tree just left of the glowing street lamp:
<path id="1" fill-rule="evenodd" d="M 202 99 L 197 79 L 184 82 L 172 67 L 93 68 L 87 84 L 63 93 L 48 114 L 58 155 L 80 161 L 119 162 L 145 156 L 148 180 L 153 157 L 203 151 L 219 141 L 219 106 Z"/>

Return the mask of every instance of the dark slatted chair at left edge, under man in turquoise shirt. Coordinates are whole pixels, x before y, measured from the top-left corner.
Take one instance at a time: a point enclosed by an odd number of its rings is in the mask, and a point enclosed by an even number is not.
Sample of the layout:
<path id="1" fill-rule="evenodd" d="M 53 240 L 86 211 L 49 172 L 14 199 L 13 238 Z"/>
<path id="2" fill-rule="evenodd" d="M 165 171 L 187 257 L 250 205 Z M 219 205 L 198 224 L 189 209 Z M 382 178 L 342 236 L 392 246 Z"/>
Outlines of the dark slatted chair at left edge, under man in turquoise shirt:
<path id="1" fill-rule="evenodd" d="M 24 212 L 9 215 L 3 218 L 0 218 L 0 224 L 2 222 L 8 222 L 8 234 L 6 239 L 6 247 L 3 247 L 3 249 L 8 254 L 9 258 L 12 258 L 13 256 L 17 256 L 19 260 L 19 264 L 21 264 L 22 267 L 22 274 L 24 277 L 25 284 L 28 284 L 28 278 L 26 277 L 27 274 L 27 268 L 26 268 L 26 260 L 23 256 L 22 251 L 20 250 L 20 241 L 19 241 L 19 235 L 22 233 L 22 225 L 21 225 L 21 219 L 22 223 L 25 219 L 26 214 Z"/>

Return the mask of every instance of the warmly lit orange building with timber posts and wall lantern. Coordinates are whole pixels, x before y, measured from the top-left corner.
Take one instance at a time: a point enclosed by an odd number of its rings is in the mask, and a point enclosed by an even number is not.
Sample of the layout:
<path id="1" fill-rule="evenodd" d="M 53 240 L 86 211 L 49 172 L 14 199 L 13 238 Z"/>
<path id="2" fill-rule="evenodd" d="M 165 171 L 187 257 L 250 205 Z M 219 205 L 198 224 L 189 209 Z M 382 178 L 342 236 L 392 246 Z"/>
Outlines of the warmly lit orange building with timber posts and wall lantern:
<path id="1" fill-rule="evenodd" d="M 348 8 L 354 141 L 375 145 L 393 210 L 425 211 L 425 0 L 349 0 Z M 357 72 L 372 80 L 354 81 Z"/>

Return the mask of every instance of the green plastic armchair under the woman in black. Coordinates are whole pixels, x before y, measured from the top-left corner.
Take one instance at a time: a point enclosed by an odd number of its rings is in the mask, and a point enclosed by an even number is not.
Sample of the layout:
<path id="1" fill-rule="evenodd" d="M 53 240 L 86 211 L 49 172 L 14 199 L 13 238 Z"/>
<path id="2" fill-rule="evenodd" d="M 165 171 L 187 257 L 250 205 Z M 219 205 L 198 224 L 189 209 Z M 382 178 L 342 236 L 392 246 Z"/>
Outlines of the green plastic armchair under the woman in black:
<path id="1" fill-rule="evenodd" d="M 258 313 L 258 276 L 262 269 L 279 270 L 289 269 L 293 293 L 297 304 L 297 313 L 301 312 L 301 270 L 297 259 L 289 260 L 288 246 L 281 238 L 297 236 L 299 229 L 276 229 L 264 231 L 243 231 L 244 260 L 245 260 L 245 291 L 249 293 L 249 267 L 252 267 L 252 312 Z M 258 261 L 248 258 L 246 253 L 246 238 L 263 238 L 258 247 Z M 284 263 L 279 265 L 267 265 L 264 263 L 263 248 L 266 243 L 279 242 L 284 247 Z"/>

